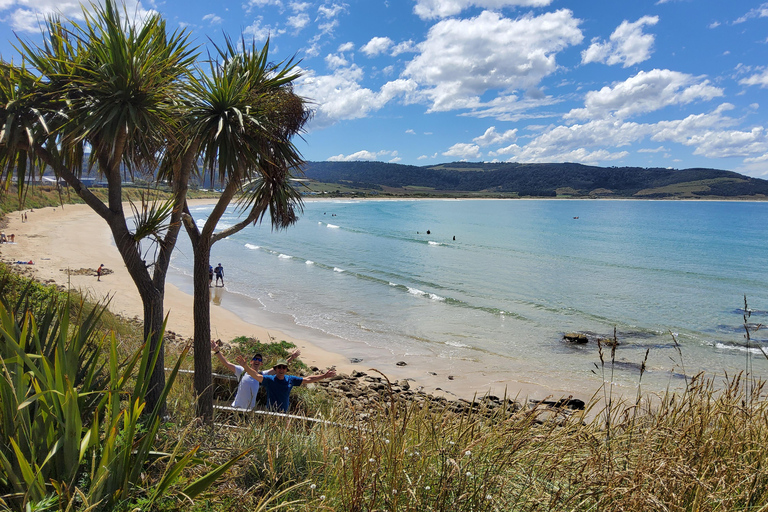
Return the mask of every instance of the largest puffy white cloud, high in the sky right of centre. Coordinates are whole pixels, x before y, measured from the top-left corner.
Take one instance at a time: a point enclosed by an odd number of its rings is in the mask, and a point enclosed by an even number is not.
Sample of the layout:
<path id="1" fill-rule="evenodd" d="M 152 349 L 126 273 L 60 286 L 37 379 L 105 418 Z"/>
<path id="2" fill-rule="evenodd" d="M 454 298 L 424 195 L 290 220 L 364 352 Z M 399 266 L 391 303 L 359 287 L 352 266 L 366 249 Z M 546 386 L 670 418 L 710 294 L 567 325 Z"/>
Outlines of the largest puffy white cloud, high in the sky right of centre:
<path id="1" fill-rule="evenodd" d="M 436 23 L 404 75 L 426 87 L 430 111 L 475 108 L 488 91 L 514 98 L 557 69 L 555 55 L 583 36 L 569 10 L 504 18 L 484 11 L 471 19 Z"/>

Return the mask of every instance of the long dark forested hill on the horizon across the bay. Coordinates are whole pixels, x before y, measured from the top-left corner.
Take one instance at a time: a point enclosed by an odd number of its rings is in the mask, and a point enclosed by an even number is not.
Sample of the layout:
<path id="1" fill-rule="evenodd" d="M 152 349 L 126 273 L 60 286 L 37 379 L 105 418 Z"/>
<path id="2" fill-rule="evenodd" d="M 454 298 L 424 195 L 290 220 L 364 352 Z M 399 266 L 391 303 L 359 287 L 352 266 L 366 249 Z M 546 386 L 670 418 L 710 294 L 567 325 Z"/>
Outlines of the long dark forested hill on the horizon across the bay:
<path id="1" fill-rule="evenodd" d="M 454 162 L 419 167 L 385 162 L 308 162 L 305 171 L 310 180 L 374 193 L 768 199 L 768 180 L 718 169 L 574 163 Z"/>

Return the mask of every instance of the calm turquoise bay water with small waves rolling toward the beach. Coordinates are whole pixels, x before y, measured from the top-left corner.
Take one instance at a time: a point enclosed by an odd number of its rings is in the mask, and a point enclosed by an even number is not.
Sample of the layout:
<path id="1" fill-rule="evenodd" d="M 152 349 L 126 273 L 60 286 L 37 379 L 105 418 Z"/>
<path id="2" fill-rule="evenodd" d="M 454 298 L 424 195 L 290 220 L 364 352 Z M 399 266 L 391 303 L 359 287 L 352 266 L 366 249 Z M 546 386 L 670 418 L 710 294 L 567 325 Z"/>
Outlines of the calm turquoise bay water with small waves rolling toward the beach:
<path id="1" fill-rule="evenodd" d="M 636 386 L 650 349 L 643 385 L 663 389 L 745 368 L 745 295 L 750 322 L 768 322 L 767 220 L 763 202 L 308 201 L 286 231 L 217 243 L 212 263 L 237 298 L 228 307 L 288 319 L 349 357 L 588 390 L 603 379 L 592 341 L 615 327 L 612 379 Z M 189 258 L 181 243 L 182 285 Z M 565 344 L 569 331 L 590 343 Z M 768 349 L 767 332 L 752 344 Z"/>

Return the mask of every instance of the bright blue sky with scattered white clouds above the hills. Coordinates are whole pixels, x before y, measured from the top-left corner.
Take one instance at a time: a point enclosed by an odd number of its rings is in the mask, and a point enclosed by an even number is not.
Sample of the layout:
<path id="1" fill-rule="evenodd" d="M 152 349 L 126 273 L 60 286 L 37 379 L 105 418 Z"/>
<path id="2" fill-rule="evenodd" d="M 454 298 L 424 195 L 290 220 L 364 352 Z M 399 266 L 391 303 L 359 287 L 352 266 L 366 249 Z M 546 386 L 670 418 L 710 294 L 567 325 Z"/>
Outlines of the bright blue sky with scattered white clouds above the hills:
<path id="1" fill-rule="evenodd" d="M 314 116 L 307 160 L 707 167 L 768 179 L 768 3 L 127 0 L 279 62 Z M 76 0 L 0 0 L 0 55 Z"/>

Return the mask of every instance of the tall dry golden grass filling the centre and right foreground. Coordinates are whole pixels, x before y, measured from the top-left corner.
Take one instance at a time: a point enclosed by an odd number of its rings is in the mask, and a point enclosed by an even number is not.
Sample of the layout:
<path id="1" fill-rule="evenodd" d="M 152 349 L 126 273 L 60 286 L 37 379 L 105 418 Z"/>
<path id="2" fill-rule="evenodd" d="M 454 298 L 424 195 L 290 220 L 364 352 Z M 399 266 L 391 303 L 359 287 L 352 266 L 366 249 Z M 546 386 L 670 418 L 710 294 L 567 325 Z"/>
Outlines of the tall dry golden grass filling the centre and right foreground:
<path id="1" fill-rule="evenodd" d="M 400 401 L 355 421 L 326 403 L 297 412 L 344 426 L 239 419 L 199 439 L 222 455 L 256 447 L 200 506 L 283 493 L 274 505 L 291 510 L 765 510 L 768 408 L 752 393 L 738 377 L 695 379 L 683 394 L 619 400 L 610 436 L 599 410 L 586 421 L 539 407 Z"/>

